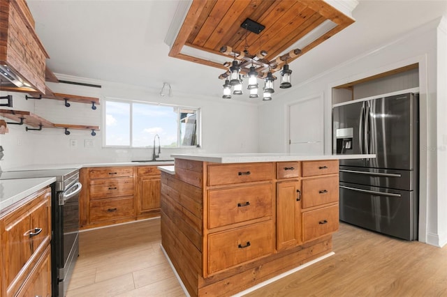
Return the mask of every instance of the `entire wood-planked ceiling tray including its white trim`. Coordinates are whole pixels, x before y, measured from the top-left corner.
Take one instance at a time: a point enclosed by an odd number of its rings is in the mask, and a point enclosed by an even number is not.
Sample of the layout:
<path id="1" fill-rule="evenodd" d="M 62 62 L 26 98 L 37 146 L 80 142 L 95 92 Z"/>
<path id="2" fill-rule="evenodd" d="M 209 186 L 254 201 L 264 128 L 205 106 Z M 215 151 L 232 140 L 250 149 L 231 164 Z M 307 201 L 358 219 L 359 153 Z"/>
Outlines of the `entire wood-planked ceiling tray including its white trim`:
<path id="1" fill-rule="evenodd" d="M 285 63 L 278 56 L 291 52 L 286 55 L 290 63 L 352 24 L 351 11 L 357 3 L 356 0 L 180 1 L 174 19 L 183 22 L 171 24 L 165 41 L 170 45 L 169 56 L 224 70 L 228 68 L 223 64 L 231 61 L 235 52 L 243 53 L 248 45 L 251 56 L 261 51 L 268 53 L 262 57 L 265 63 L 258 64 L 261 66 L 258 72 L 266 73 L 268 68 L 274 72 Z M 241 27 L 247 18 L 265 29 L 261 33 L 247 32 Z M 299 54 L 293 54 L 294 45 L 299 47 Z M 223 52 L 222 47 L 232 52 Z M 249 70 L 247 64 L 242 73 Z"/>

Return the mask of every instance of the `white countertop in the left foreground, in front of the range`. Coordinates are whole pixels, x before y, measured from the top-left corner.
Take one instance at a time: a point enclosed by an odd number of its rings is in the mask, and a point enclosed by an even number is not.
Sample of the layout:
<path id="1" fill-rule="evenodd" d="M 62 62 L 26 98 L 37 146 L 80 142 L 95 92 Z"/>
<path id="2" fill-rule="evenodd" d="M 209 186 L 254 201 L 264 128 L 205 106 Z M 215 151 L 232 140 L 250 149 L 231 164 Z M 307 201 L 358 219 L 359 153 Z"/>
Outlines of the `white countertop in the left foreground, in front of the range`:
<path id="1" fill-rule="evenodd" d="M 54 177 L 6 179 L 0 181 L 0 213 L 8 206 L 45 188 L 47 185 L 54 183 L 54 181 L 56 181 Z"/>

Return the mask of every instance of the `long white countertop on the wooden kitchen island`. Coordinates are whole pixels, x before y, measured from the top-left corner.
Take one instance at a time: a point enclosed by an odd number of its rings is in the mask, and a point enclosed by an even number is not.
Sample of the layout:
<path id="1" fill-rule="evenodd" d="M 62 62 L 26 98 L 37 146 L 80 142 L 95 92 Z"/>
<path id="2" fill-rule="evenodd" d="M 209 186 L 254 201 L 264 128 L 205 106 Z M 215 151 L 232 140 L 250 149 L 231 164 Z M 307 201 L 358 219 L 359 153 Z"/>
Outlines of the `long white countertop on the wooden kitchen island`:
<path id="1" fill-rule="evenodd" d="M 173 154 L 172 158 L 215 163 L 248 163 L 248 162 L 288 162 L 316 160 L 346 160 L 376 158 L 375 154 L 365 155 L 302 155 L 293 153 L 197 153 Z"/>

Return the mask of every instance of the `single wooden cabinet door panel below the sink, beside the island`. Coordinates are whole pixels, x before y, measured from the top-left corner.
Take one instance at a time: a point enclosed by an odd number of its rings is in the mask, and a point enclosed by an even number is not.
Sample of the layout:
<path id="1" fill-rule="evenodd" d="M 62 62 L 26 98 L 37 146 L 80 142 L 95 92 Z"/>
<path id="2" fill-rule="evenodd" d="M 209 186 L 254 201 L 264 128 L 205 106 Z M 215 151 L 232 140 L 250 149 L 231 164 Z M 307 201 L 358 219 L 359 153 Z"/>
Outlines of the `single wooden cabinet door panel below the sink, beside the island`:
<path id="1" fill-rule="evenodd" d="M 138 214 L 160 208 L 160 178 L 140 178 Z"/>

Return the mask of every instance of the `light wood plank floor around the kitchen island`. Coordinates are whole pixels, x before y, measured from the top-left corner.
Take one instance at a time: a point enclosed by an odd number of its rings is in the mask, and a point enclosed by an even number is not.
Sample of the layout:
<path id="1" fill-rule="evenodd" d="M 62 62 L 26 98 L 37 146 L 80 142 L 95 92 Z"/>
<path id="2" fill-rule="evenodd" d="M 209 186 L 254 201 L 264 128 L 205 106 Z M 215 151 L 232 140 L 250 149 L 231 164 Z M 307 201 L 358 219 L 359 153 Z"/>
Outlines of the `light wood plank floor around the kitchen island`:
<path id="1" fill-rule="evenodd" d="M 160 243 L 159 219 L 82 232 L 67 297 L 184 296 Z M 247 296 L 447 296 L 447 246 L 349 224 L 333 246 L 335 255 Z"/>

